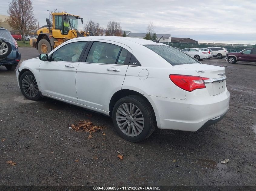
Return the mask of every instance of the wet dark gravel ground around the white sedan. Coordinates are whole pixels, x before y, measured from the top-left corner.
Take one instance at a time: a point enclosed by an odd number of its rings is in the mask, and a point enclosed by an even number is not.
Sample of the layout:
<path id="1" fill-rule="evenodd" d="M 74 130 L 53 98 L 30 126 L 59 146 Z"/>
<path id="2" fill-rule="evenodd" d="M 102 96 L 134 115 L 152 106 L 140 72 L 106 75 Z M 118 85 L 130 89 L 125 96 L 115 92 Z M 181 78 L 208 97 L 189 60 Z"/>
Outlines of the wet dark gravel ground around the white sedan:
<path id="1" fill-rule="evenodd" d="M 35 48 L 19 50 L 22 60 L 38 56 Z M 157 129 L 140 143 L 120 138 L 107 116 L 49 98 L 25 99 L 15 71 L 1 66 L 0 185 L 255 186 L 256 64 L 202 63 L 226 67 L 231 97 L 225 118 L 203 133 Z M 91 139 L 69 130 L 86 119 L 105 129 Z"/>

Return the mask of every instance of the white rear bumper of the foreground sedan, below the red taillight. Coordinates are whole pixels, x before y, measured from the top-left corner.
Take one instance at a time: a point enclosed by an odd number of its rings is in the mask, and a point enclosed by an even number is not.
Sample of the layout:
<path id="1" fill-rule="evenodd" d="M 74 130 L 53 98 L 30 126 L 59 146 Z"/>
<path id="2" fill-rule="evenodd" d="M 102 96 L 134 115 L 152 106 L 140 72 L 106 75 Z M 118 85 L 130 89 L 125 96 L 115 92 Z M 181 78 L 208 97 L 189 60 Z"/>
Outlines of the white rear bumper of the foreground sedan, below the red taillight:
<path id="1" fill-rule="evenodd" d="M 205 95 L 206 89 L 198 89 L 186 92 L 185 100 L 156 96 L 146 98 L 154 108 L 159 129 L 198 131 L 203 126 L 217 123 L 229 109 L 227 89 L 215 96 Z"/>

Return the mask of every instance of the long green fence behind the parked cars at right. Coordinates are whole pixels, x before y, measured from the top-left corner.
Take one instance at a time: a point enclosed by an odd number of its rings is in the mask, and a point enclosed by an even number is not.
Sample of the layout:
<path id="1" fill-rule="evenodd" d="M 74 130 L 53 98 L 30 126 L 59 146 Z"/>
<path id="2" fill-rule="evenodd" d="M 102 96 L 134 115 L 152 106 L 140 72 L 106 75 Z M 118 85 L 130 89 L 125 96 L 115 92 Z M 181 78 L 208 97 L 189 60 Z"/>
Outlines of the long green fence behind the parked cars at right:
<path id="1" fill-rule="evenodd" d="M 181 42 L 162 42 L 169 46 L 174 46 L 179 49 L 185 48 L 207 48 L 207 47 L 223 47 L 227 48 L 228 51 L 240 52 L 246 48 L 256 48 L 256 44 L 227 44 L 227 43 L 181 43 Z"/>

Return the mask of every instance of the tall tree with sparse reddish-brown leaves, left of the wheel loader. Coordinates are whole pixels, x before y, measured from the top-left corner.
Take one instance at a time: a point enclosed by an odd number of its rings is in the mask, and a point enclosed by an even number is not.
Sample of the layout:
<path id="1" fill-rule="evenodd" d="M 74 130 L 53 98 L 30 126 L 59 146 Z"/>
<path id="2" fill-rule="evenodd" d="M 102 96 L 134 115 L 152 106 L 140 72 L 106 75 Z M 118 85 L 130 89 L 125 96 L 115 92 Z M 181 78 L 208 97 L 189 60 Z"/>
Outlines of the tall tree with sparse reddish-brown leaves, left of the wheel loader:
<path id="1" fill-rule="evenodd" d="M 18 30 L 22 35 L 28 35 L 31 31 L 36 30 L 36 21 L 33 14 L 33 5 L 31 0 L 12 0 L 9 2 L 7 13 L 10 15 L 5 21 L 13 28 Z"/>

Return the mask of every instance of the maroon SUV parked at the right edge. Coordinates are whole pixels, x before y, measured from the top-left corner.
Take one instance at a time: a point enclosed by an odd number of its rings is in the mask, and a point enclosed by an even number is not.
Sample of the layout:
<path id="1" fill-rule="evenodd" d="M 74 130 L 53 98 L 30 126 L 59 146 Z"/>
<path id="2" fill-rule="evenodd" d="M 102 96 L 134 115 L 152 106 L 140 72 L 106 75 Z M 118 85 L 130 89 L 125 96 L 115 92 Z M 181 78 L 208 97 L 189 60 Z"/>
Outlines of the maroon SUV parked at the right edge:
<path id="1" fill-rule="evenodd" d="M 231 64 L 237 61 L 256 62 L 256 48 L 247 48 L 239 53 L 228 53 L 225 60 Z"/>

